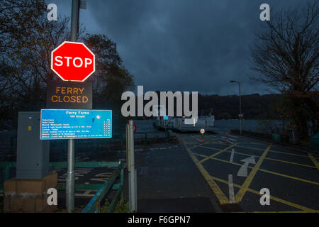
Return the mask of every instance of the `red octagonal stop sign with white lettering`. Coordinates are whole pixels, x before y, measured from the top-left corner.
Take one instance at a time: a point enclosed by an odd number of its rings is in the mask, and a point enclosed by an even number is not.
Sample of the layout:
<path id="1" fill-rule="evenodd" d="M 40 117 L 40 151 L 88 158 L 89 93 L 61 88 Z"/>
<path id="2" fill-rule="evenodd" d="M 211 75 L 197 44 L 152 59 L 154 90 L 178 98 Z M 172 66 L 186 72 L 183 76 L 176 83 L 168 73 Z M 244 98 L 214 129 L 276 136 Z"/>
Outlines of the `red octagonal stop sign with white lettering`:
<path id="1" fill-rule="evenodd" d="M 63 80 L 84 82 L 95 71 L 95 55 L 84 43 L 65 41 L 51 52 L 51 70 Z"/>

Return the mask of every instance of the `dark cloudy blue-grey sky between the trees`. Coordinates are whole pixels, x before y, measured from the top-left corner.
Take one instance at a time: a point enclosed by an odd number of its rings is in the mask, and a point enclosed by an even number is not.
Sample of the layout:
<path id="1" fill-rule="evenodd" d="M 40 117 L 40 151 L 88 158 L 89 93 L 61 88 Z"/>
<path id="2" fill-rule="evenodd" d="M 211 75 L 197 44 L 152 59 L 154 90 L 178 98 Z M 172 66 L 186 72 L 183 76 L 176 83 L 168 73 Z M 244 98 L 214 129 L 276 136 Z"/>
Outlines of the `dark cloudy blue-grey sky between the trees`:
<path id="1" fill-rule="evenodd" d="M 267 94 L 248 78 L 249 45 L 262 27 L 259 6 L 272 11 L 303 6 L 306 0 L 86 0 L 80 23 L 88 33 L 106 34 L 118 45 L 125 67 L 144 91 L 205 94 Z M 57 4 L 71 15 L 72 0 Z M 268 90 L 268 91 L 267 91 Z"/>

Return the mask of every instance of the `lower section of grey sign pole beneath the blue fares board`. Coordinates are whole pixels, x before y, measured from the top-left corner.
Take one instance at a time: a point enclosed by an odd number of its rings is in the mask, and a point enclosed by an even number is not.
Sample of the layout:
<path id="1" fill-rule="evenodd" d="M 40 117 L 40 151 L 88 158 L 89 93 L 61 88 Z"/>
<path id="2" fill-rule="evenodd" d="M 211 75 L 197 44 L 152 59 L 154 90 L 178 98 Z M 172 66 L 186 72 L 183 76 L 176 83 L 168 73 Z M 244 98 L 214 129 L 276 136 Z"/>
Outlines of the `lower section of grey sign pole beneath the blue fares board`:
<path id="1" fill-rule="evenodd" d="M 74 210 L 74 140 L 67 140 L 67 212 Z"/>

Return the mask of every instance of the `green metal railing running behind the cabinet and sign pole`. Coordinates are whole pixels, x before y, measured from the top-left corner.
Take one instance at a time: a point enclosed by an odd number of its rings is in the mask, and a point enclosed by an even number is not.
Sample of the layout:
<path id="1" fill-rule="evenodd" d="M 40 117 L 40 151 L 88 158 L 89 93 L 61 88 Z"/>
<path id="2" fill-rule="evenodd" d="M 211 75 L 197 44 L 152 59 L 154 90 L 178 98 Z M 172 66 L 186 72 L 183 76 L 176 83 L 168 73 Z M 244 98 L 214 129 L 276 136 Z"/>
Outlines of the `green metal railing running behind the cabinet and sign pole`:
<path id="1" fill-rule="evenodd" d="M 16 162 L 0 162 L 0 168 L 4 170 L 4 181 L 10 179 L 10 169 L 16 167 Z M 103 184 L 75 184 L 75 189 L 98 190 L 94 197 L 82 210 L 82 213 L 96 213 L 100 211 L 101 201 L 110 189 L 117 190 L 111 204 L 108 206 L 108 213 L 116 208 L 118 201 L 123 199 L 124 183 L 124 162 L 75 162 L 74 167 L 108 167 L 115 168 L 111 178 L 106 179 Z M 50 168 L 67 168 L 67 162 L 50 162 Z M 116 180 L 120 177 L 120 182 Z M 4 189 L 4 184 L 0 184 L 0 189 Z M 65 189 L 65 184 L 57 184 L 57 189 Z"/>

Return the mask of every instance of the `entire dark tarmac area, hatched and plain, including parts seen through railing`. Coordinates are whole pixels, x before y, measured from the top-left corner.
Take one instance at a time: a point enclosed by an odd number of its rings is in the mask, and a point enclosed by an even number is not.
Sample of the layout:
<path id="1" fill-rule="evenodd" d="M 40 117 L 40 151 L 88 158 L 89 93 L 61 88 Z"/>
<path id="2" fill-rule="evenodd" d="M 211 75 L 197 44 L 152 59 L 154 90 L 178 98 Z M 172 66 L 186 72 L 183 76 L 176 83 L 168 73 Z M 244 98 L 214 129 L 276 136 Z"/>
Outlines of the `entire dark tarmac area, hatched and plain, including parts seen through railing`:
<path id="1" fill-rule="evenodd" d="M 319 211 L 318 154 L 222 131 L 175 135 L 178 143 L 135 145 L 138 212 Z M 77 161 L 123 158 L 123 148 L 99 154 L 76 152 Z M 247 158 L 250 162 L 245 165 L 242 160 Z M 55 171 L 63 184 L 66 170 Z M 101 184 L 112 172 L 110 168 L 78 168 L 76 184 Z M 127 173 L 124 182 L 128 198 Z M 269 205 L 260 203 L 261 189 L 269 190 Z M 85 205 L 95 193 L 78 190 L 76 206 Z M 64 190 L 59 191 L 58 206 L 65 206 Z"/>

